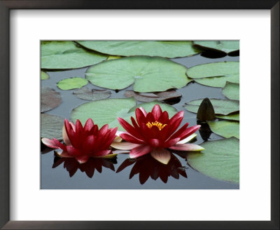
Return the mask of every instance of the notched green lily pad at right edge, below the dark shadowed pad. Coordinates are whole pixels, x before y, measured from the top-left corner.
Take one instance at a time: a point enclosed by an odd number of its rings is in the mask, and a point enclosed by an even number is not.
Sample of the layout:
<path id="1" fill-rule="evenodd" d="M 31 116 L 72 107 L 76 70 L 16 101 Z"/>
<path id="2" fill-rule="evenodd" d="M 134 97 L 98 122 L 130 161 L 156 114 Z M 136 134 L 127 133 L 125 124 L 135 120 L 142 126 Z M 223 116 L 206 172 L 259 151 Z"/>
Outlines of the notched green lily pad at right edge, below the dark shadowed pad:
<path id="1" fill-rule="evenodd" d="M 186 73 L 197 83 L 223 88 L 227 81 L 239 83 L 239 62 L 214 62 L 197 65 L 187 69 Z"/>

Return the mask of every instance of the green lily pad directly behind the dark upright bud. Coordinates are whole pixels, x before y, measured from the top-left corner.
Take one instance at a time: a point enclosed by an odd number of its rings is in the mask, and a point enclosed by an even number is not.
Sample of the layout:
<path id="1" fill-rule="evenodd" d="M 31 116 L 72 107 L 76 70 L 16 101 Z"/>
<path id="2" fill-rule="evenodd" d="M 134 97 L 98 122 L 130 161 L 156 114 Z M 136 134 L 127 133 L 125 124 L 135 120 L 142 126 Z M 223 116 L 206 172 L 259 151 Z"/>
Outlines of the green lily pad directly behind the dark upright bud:
<path id="1" fill-rule="evenodd" d="M 200 104 L 203 99 L 199 100 L 193 100 L 186 103 L 185 109 L 188 111 L 191 111 L 193 113 L 197 113 L 198 108 L 200 107 Z M 215 114 L 222 114 L 222 115 L 228 115 L 233 112 L 239 111 L 239 101 L 236 100 L 221 100 L 221 99 L 210 99 Z"/>

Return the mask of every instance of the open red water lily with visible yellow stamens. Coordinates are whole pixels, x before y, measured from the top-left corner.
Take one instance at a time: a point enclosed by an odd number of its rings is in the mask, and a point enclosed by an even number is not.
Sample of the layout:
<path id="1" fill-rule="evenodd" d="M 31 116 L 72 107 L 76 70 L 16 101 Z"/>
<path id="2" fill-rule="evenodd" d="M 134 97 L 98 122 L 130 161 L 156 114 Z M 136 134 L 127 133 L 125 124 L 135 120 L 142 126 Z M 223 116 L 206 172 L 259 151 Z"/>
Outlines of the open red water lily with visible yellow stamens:
<path id="1" fill-rule="evenodd" d="M 185 144 L 200 126 L 188 128 L 188 123 L 186 123 L 179 128 L 183 120 L 183 111 L 179 111 L 169 119 L 167 111 L 162 112 L 160 106 L 155 104 L 148 114 L 142 107 L 137 108 L 135 114 L 137 121 L 131 117 L 133 126 L 124 119 L 118 118 L 120 124 L 127 130 L 127 133 L 121 133 L 120 137 L 127 142 L 111 144 L 116 149 L 131 149 L 130 158 L 137 158 L 151 152 L 153 158 L 167 164 L 171 157 L 167 149 L 179 151 L 203 150 L 197 144 Z"/>

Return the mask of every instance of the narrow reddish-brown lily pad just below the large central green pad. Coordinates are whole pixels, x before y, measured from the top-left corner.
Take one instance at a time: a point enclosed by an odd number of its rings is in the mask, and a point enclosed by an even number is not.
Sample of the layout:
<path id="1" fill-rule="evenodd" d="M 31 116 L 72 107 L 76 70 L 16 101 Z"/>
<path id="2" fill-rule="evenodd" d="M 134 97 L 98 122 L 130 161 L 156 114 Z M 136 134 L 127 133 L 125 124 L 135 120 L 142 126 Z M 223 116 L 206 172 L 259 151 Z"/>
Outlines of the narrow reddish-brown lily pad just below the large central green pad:
<path id="1" fill-rule="evenodd" d="M 125 91 L 125 97 L 134 97 L 139 102 L 153 102 L 154 100 L 174 100 L 182 97 L 182 94 L 176 90 L 167 90 L 160 93 L 136 93 L 133 90 Z"/>

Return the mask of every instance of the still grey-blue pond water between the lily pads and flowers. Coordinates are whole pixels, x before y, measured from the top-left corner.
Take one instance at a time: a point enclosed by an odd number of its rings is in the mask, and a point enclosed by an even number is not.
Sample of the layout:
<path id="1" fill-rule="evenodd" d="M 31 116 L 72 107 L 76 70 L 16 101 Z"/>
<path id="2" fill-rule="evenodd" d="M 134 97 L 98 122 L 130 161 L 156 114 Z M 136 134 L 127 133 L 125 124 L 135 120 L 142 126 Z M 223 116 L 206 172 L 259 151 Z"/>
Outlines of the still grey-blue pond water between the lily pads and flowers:
<path id="1" fill-rule="evenodd" d="M 239 61 L 239 56 L 225 56 L 211 59 L 202 57 L 202 55 L 195 55 L 192 57 L 174 58 L 172 60 L 186 67 L 193 67 L 210 62 Z M 61 79 L 75 76 L 84 78 L 86 69 L 87 67 L 62 72 L 48 72 L 50 79 L 41 81 L 41 86 L 55 88 L 62 95 L 62 104 L 55 109 L 46 111 L 45 114 L 70 119 L 73 108 L 89 102 L 80 100 L 73 95 L 73 90 L 60 90 L 56 86 L 56 83 Z M 91 83 L 88 83 L 86 87 L 100 89 Z M 132 90 L 132 86 L 120 90 L 118 93 L 115 90 L 111 90 L 112 94 L 109 98 L 123 98 L 125 97 L 123 95 L 125 90 Z M 178 91 L 182 93 L 181 100 L 176 104 L 172 104 L 172 106 L 178 111 L 185 111 L 182 124 L 188 122 L 190 123 L 189 126 L 196 125 L 197 119 L 196 114 L 190 113 L 183 108 L 185 102 L 204 97 L 226 99 L 222 94 L 222 88 L 202 86 L 199 83 L 189 83 L 188 86 L 180 88 Z M 197 139 L 194 143 L 201 144 L 204 140 L 198 131 L 196 133 Z M 223 137 L 211 133 L 209 140 L 218 139 L 223 139 Z M 155 165 L 157 163 L 154 163 L 153 159 L 150 158 L 144 158 L 137 162 L 129 162 L 127 160 L 129 158 L 128 154 L 118 154 L 116 160 L 92 161 L 87 165 L 82 164 L 83 166 L 81 166 L 75 161 L 72 161 L 72 159 L 63 162 L 64 159 L 55 157 L 54 151 L 49 150 L 44 154 L 41 153 L 41 189 L 239 189 L 239 184 L 215 180 L 190 168 L 183 155 L 179 156 L 178 154 L 174 154 L 172 162 L 168 164 L 168 168 L 167 166 L 162 166 L 162 164 L 158 164 L 155 167 L 148 167 L 148 165 Z M 128 163 L 127 167 L 116 173 L 124 161 Z M 54 168 L 52 168 L 53 166 Z M 78 168 L 79 166 L 80 168 Z M 178 166 L 179 170 L 176 170 Z M 93 168 L 95 170 L 92 175 Z M 99 173 L 101 171 L 102 173 Z M 139 173 L 137 174 L 137 172 L 140 172 L 141 177 L 139 177 Z M 133 175 L 131 179 L 130 174 Z M 90 178 L 87 175 L 92 177 Z M 173 175 L 175 178 L 169 175 Z M 158 179 L 153 180 L 151 176 L 153 178 L 158 177 Z M 178 177 L 179 179 L 176 179 Z"/>

